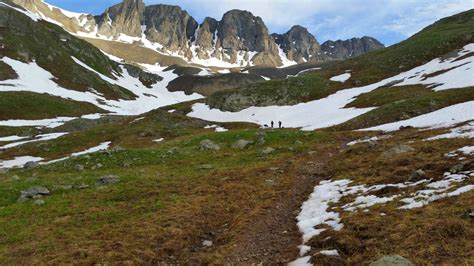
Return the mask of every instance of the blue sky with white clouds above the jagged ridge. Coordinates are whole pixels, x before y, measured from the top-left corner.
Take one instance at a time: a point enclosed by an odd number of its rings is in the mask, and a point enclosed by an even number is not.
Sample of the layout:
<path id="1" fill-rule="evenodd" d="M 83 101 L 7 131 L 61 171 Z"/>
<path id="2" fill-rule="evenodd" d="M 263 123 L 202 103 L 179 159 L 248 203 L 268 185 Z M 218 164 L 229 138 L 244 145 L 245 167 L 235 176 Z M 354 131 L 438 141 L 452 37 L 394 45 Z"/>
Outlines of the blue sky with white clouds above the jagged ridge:
<path id="1" fill-rule="evenodd" d="M 61 8 L 100 14 L 120 0 L 46 0 Z M 372 36 L 386 45 L 400 42 L 436 20 L 474 8 L 474 0 L 145 0 L 179 5 L 198 22 L 218 20 L 230 9 L 260 16 L 270 32 L 299 24 L 319 42 Z"/>

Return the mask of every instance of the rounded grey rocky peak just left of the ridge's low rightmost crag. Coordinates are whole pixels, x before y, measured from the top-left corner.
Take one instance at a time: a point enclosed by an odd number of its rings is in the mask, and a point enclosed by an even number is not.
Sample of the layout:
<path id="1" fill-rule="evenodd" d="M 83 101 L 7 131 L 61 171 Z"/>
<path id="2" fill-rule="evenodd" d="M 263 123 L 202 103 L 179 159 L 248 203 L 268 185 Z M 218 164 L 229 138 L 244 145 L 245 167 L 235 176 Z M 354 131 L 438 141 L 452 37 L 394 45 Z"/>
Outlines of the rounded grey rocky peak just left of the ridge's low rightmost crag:
<path id="1" fill-rule="evenodd" d="M 289 60 L 303 63 L 319 58 L 319 43 L 305 27 L 295 25 L 288 32 L 274 33 L 272 37 Z"/>

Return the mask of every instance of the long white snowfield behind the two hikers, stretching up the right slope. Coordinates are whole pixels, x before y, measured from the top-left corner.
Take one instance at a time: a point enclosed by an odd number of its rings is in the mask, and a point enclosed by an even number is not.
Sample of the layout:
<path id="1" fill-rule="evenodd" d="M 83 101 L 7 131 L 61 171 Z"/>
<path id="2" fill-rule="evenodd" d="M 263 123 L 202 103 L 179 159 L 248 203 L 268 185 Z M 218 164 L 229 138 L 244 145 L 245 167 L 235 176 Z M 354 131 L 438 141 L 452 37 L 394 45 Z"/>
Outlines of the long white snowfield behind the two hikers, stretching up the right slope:
<path id="1" fill-rule="evenodd" d="M 260 125 L 269 124 L 272 120 L 282 121 L 284 127 L 302 128 L 303 130 L 333 126 L 373 110 L 374 108 L 357 109 L 344 108 L 344 106 L 352 102 L 358 95 L 373 91 L 389 83 L 398 83 L 399 85 L 436 83 L 438 87 L 435 89 L 438 90 L 474 86 L 474 68 L 470 67 L 473 64 L 474 56 L 466 57 L 466 55 L 472 52 L 474 52 L 474 44 L 469 44 L 464 46 L 453 58 L 445 60 L 434 59 L 424 65 L 377 83 L 341 90 L 326 98 L 293 106 L 250 107 L 239 112 L 224 112 L 218 109 L 210 109 L 205 104 L 197 103 L 193 106 L 192 112 L 188 116 L 216 122 L 239 121 Z M 431 75 L 424 79 L 426 77 L 425 74 Z M 471 110 L 468 110 L 469 108 Z M 445 112 L 459 111 L 463 111 L 462 114 L 459 114 L 459 117 L 454 114 L 458 117 L 457 122 L 474 119 L 474 106 L 470 103 L 444 108 L 443 111 L 440 110 L 440 115 L 445 115 Z M 433 119 L 436 114 L 432 115 Z M 445 116 L 449 117 L 449 119 L 452 118 L 450 113 Z M 402 122 L 401 124 L 406 123 Z M 389 128 L 393 129 L 396 127 L 398 129 L 399 125 L 394 124 Z M 375 127 L 371 129 L 385 128 Z"/>

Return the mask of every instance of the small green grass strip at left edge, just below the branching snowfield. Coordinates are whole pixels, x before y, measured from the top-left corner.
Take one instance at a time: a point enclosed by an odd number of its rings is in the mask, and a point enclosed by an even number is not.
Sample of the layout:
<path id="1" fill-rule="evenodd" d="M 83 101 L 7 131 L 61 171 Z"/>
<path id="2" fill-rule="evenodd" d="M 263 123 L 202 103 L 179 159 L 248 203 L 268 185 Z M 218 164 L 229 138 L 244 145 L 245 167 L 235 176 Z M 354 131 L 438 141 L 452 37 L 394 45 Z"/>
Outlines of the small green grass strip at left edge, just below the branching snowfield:
<path id="1" fill-rule="evenodd" d="M 103 113 L 95 105 L 32 92 L 0 92 L 0 120 Z"/>

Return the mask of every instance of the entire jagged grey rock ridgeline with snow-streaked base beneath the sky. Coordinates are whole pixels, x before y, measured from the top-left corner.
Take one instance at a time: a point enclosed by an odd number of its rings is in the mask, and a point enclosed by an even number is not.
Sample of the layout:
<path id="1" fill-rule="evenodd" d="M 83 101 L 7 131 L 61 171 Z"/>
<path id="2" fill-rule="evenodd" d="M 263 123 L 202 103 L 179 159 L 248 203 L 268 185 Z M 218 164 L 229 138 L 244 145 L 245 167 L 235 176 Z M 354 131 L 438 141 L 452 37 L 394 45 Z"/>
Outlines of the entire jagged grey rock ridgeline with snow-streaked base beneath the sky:
<path id="1" fill-rule="evenodd" d="M 327 41 L 322 45 L 306 28 L 270 34 L 262 18 L 230 10 L 220 21 L 199 23 L 179 6 L 124 0 L 99 16 L 71 13 L 41 0 L 13 0 L 84 38 L 135 43 L 187 62 L 222 67 L 288 66 L 346 59 L 383 48 L 370 37 Z"/>

